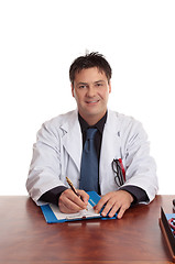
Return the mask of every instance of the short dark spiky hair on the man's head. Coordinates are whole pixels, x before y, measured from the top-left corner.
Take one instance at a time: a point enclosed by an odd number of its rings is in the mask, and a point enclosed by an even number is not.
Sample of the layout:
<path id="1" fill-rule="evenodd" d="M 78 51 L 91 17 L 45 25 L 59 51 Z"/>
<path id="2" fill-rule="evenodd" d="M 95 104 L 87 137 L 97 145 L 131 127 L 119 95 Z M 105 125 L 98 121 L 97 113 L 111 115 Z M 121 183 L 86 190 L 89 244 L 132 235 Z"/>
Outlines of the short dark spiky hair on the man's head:
<path id="1" fill-rule="evenodd" d="M 69 79 L 70 82 L 74 85 L 75 75 L 83 69 L 97 67 L 100 72 L 103 72 L 107 76 L 108 82 L 112 76 L 112 69 L 103 57 L 102 54 L 97 52 L 92 52 L 86 54 L 85 56 L 77 57 L 69 67 Z"/>

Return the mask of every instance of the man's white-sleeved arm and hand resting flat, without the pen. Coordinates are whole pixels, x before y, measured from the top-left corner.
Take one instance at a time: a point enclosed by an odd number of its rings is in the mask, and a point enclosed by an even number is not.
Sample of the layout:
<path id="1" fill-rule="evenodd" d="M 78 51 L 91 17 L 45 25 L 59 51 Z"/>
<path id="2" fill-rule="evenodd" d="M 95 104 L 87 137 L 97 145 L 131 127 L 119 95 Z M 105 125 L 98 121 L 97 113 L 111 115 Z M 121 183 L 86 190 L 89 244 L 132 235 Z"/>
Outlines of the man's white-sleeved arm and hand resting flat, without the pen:
<path id="1" fill-rule="evenodd" d="M 154 160 L 150 156 L 147 136 L 139 122 L 131 121 L 122 125 L 122 160 L 125 167 L 127 182 L 117 191 L 106 194 L 96 206 L 99 212 L 109 217 L 119 210 L 118 218 L 136 202 L 150 202 L 157 191 L 157 178 Z"/>

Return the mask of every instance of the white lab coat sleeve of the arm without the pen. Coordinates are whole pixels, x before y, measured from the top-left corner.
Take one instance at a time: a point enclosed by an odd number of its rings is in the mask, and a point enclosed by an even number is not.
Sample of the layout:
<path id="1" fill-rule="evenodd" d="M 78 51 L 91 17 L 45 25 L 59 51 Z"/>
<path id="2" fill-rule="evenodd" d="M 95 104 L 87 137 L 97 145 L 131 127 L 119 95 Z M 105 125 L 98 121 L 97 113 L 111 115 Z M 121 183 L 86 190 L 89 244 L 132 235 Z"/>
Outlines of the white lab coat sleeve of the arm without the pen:
<path id="1" fill-rule="evenodd" d="M 158 189 L 156 165 L 150 155 L 150 143 L 142 124 L 138 121 L 130 122 L 123 139 L 127 178 L 124 186 L 142 188 L 152 201 Z"/>

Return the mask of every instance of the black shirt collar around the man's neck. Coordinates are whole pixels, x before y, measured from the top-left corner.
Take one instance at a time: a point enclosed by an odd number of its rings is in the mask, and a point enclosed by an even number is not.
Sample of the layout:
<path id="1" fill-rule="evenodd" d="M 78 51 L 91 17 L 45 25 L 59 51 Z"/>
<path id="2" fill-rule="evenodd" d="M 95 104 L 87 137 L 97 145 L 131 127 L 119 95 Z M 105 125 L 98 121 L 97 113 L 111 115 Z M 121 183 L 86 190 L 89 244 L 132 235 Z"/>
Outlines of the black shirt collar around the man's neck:
<path id="1" fill-rule="evenodd" d="M 98 131 L 102 134 L 103 132 L 103 127 L 105 127 L 105 123 L 107 121 L 107 114 L 108 114 L 108 111 L 106 112 L 106 114 L 92 127 L 90 127 L 86 121 L 85 119 L 83 119 L 83 117 L 78 113 L 78 120 L 79 120 L 79 124 L 80 124 L 80 129 L 81 129 L 81 133 L 84 133 L 87 129 L 89 128 L 96 128 L 98 129 Z"/>

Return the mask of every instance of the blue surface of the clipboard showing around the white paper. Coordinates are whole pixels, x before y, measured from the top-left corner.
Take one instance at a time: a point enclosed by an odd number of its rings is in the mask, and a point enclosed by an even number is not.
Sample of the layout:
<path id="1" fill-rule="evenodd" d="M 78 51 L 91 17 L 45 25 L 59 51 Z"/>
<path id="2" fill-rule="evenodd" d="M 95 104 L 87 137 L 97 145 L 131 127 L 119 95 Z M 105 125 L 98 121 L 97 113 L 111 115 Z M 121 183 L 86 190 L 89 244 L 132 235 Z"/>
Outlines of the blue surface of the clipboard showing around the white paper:
<path id="1" fill-rule="evenodd" d="M 89 204 L 94 207 L 98 204 L 98 201 L 100 200 L 100 196 L 96 193 L 96 191 L 88 191 L 87 193 L 89 195 Z M 58 219 L 56 217 L 56 213 L 54 213 L 54 210 L 52 209 L 52 205 L 44 205 L 44 206 L 41 206 L 41 209 L 42 209 L 42 212 L 44 215 L 44 218 L 46 220 L 47 223 L 57 223 L 57 222 L 67 222 L 67 221 L 77 221 L 77 220 L 85 220 L 85 219 L 95 219 L 95 218 L 99 218 L 101 220 L 107 220 L 107 219 L 117 219 L 117 213 L 114 215 L 113 218 L 109 218 L 108 216 L 107 217 L 102 217 L 100 213 L 98 213 L 97 216 L 84 216 L 84 217 L 79 217 L 79 218 L 62 218 L 62 219 Z M 101 210 L 102 211 L 102 210 Z M 64 215 L 63 215 L 64 216 Z M 72 216 L 72 215 L 69 215 Z"/>

